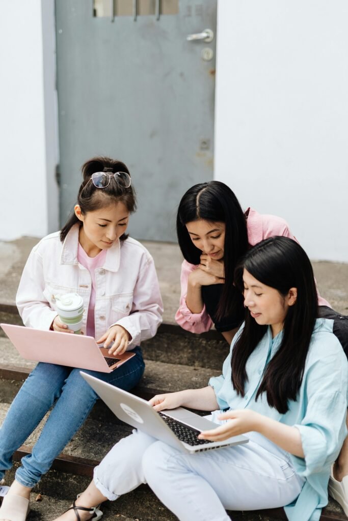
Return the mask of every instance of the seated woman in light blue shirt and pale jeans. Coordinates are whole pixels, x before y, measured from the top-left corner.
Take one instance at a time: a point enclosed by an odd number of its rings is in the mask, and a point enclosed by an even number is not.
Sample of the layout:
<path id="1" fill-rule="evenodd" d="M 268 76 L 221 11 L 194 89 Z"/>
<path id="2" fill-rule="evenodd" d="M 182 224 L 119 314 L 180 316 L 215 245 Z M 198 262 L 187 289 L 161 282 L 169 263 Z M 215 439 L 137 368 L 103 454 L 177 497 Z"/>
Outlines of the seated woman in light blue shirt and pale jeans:
<path id="1" fill-rule="evenodd" d="M 225 509 L 280 506 L 291 521 L 319 520 L 346 436 L 346 356 L 333 321 L 316 319 L 313 270 L 295 241 L 274 237 L 256 245 L 235 282 L 246 317 L 222 375 L 203 389 L 150 403 L 157 411 L 219 409 L 212 419 L 220 426 L 199 438 L 243 433 L 248 443 L 192 455 L 135 431 L 105 456 L 60 521 L 76 512 L 81 521 L 91 518 L 95 505 L 145 482 L 181 521 L 230 521 Z"/>

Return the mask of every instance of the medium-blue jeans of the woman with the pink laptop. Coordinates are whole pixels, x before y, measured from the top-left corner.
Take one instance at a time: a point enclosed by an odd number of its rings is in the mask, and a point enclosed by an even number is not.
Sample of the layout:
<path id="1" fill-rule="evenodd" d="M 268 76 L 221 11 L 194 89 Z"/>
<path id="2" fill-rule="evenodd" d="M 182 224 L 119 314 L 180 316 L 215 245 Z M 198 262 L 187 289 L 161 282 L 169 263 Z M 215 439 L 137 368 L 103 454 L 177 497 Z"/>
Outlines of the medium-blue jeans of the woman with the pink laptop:
<path id="1" fill-rule="evenodd" d="M 127 391 L 138 383 L 145 368 L 140 347 L 135 348 L 134 352 L 136 356 L 112 373 L 83 371 Z M 21 460 L 22 466 L 17 469 L 16 480 L 32 488 L 73 438 L 98 399 L 79 371 L 40 362 L 28 376 L 0 429 L 0 479 L 11 468 L 13 453 L 39 425 L 53 404 L 32 453 Z"/>

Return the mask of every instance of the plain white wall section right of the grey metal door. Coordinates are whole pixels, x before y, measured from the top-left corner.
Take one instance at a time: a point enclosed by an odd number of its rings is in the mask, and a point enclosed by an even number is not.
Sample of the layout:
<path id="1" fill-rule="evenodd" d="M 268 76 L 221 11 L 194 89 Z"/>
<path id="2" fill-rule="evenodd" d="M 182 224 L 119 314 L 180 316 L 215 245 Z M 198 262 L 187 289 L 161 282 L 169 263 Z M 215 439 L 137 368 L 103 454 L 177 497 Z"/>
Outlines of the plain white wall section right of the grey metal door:
<path id="1" fill-rule="evenodd" d="M 215 178 L 348 262 L 348 2 L 219 0 Z"/>

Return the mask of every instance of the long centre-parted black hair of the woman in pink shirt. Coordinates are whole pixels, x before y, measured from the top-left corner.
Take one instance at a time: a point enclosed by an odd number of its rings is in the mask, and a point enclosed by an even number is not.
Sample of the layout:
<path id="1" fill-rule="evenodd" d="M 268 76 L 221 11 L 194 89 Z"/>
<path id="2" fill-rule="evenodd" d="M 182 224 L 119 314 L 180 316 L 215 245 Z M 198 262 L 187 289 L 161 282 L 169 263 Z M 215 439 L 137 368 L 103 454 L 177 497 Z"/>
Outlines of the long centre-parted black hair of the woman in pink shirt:
<path id="1" fill-rule="evenodd" d="M 234 293 L 234 269 L 238 259 L 249 247 L 246 218 L 237 197 L 220 181 L 195 184 L 184 194 L 176 217 L 176 232 L 180 249 L 190 264 L 199 264 L 201 251 L 191 241 L 186 224 L 203 219 L 225 223 L 224 274 L 217 318 L 233 316 L 242 306 L 242 298 Z"/>

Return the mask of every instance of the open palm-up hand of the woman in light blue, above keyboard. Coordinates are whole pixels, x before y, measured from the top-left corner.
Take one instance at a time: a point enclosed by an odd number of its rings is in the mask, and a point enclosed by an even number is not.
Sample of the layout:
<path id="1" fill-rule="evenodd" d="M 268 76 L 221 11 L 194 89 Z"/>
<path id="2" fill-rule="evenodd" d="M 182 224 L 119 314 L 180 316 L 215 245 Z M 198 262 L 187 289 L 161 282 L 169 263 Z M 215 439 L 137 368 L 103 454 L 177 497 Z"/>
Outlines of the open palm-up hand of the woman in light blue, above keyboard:
<path id="1" fill-rule="evenodd" d="M 223 441 L 231 436 L 239 436 L 251 430 L 257 431 L 262 415 L 250 409 L 227 411 L 219 416 L 220 420 L 228 420 L 216 429 L 205 430 L 198 436 L 201 440 Z"/>

